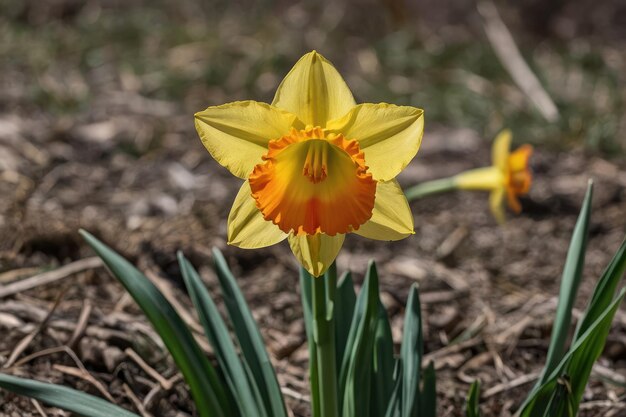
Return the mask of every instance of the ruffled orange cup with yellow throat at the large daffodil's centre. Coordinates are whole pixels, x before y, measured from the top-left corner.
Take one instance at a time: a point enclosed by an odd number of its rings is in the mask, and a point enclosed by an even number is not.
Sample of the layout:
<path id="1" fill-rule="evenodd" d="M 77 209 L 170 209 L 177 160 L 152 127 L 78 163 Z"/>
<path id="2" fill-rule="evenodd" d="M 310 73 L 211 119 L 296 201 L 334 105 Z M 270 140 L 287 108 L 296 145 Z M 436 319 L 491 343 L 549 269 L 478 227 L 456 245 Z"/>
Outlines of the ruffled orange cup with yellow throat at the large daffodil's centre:
<path id="1" fill-rule="evenodd" d="M 272 140 L 248 181 L 263 217 L 285 233 L 334 236 L 370 219 L 376 181 L 356 140 L 319 127 Z"/>

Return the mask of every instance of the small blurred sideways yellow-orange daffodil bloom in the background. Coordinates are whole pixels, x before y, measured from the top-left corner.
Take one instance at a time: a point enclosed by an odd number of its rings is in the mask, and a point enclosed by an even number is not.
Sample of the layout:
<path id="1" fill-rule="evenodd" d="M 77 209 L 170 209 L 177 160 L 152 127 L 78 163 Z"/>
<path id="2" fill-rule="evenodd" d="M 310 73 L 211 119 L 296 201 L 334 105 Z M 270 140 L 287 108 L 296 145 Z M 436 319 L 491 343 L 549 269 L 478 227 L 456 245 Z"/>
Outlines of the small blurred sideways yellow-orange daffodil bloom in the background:
<path id="1" fill-rule="evenodd" d="M 504 200 L 516 213 L 522 210 L 518 196 L 530 191 L 532 174 L 528 164 L 533 148 L 522 145 L 511 149 L 511 131 L 503 130 L 496 136 L 491 148 L 493 165 L 462 172 L 454 177 L 456 188 L 488 190 L 489 208 L 499 223 L 505 221 Z"/>

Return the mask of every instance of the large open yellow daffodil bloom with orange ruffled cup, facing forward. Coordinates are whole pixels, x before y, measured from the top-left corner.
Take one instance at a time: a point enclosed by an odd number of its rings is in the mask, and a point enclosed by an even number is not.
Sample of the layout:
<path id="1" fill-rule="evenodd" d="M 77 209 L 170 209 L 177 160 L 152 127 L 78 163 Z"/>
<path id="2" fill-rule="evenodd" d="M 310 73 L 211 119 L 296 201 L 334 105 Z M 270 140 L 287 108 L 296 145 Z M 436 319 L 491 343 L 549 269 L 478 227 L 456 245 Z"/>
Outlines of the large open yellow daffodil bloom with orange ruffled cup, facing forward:
<path id="1" fill-rule="evenodd" d="M 244 179 L 228 243 L 261 248 L 285 238 L 319 276 L 346 233 L 398 240 L 413 216 L 395 180 L 421 143 L 423 111 L 359 104 L 341 75 L 313 51 L 278 86 L 272 104 L 239 101 L 195 115 L 202 143 Z"/>

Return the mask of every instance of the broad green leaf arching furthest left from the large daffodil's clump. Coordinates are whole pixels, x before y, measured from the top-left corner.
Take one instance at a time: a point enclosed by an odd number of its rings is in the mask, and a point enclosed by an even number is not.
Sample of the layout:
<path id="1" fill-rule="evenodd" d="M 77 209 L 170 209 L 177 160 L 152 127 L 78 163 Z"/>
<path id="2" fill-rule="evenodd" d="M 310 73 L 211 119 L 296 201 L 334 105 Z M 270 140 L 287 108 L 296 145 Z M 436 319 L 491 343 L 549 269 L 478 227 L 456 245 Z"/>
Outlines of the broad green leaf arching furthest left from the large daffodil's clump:
<path id="1" fill-rule="evenodd" d="M 111 273 L 124 285 L 163 339 L 189 384 L 199 414 L 202 417 L 234 415 L 229 397 L 215 369 L 163 294 L 126 259 L 88 232 L 81 230 L 80 233 Z"/>

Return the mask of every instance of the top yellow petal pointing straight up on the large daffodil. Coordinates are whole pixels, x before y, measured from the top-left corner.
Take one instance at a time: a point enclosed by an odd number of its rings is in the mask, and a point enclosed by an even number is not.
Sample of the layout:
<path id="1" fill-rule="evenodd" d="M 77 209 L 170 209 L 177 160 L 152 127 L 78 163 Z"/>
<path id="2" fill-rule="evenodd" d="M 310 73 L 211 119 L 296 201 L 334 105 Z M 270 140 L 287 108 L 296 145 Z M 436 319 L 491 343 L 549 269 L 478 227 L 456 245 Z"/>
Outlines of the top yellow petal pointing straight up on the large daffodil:
<path id="1" fill-rule="evenodd" d="M 333 64 L 309 52 L 293 66 L 276 90 L 272 105 L 285 109 L 306 125 L 325 127 L 355 105 L 346 82 Z"/>

